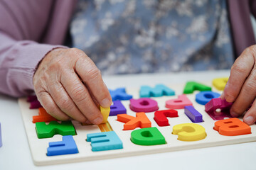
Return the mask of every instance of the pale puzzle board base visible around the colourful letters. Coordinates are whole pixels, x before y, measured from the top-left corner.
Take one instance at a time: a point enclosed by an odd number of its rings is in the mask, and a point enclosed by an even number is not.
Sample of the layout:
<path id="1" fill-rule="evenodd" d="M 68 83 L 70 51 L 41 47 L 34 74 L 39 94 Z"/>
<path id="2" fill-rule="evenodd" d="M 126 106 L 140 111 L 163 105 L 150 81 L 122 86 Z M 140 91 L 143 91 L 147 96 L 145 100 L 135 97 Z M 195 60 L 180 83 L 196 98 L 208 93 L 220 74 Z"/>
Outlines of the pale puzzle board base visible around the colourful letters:
<path id="1" fill-rule="evenodd" d="M 199 82 L 212 86 L 211 82 Z M 165 102 L 169 99 L 178 98 L 178 95 L 183 94 L 183 88 L 185 84 L 164 84 L 170 89 L 175 91 L 175 96 L 162 96 L 162 97 L 151 97 L 157 101 L 159 106 L 159 111 L 166 110 Z M 127 94 L 132 94 L 133 98 L 139 98 L 139 88 L 138 89 L 129 89 L 126 88 Z M 221 91 L 216 90 L 212 86 L 212 91 L 216 91 L 221 94 Z M 151 127 L 156 127 L 162 135 L 164 135 L 166 144 L 164 145 L 152 145 L 152 146 L 142 146 L 135 145 L 131 142 L 131 132 L 133 130 L 122 130 L 124 128 L 124 123 L 117 121 L 117 115 L 110 116 L 108 122 L 110 123 L 112 130 L 117 133 L 120 140 L 123 142 L 123 149 L 115 149 L 109 151 L 101 152 L 92 152 L 91 142 L 86 141 L 88 133 L 101 132 L 100 128 L 97 125 L 81 125 L 77 121 L 73 120 L 72 123 L 75 126 L 77 135 L 74 135 L 73 138 L 78 147 L 78 154 L 65 154 L 58 156 L 48 157 L 46 155 L 46 149 L 48 148 L 49 142 L 62 141 L 61 135 L 55 135 L 51 138 L 38 139 L 36 135 L 35 127 L 36 125 L 32 123 L 32 116 L 38 115 L 38 109 L 29 109 L 29 103 L 26 101 L 26 98 L 19 98 L 18 103 L 21 108 L 21 114 L 23 117 L 23 124 L 26 129 L 26 134 L 28 137 L 29 146 L 31 149 L 31 154 L 33 157 L 33 162 L 36 165 L 48 165 L 48 164 L 65 164 L 69 162 L 84 162 L 91 161 L 96 159 L 112 159 L 115 157 L 132 157 L 134 155 L 141 154 L 154 154 L 159 152 L 173 152 L 184 149 L 196 149 L 201 147 L 214 147 L 218 145 L 231 145 L 242 142 L 252 142 L 256 140 L 256 125 L 251 125 L 252 133 L 249 135 L 239 135 L 239 136 L 224 136 L 220 135 L 217 131 L 213 130 L 215 120 L 210 118 L 208 113 L 204 111 L 205 106 L 196 103 L 195 98 L 196 94 L 199 91 L 194 91 L 193 94 L 187 94 L 187 97 L 193 103 L 194 108 L 203 115 L 203 122 L 197 123 L 202 125 L 206 129 L 207 137 L 203 140 L 185 142 L 177 140 L 178 135 L 172 134 L 172 129 L 174 125 L 181 123 L 192 123 L 191 120 L 185 115 L 184 109 L 176 109 L 178 111 L 177 118 L 168 118 L 169 126 L 159 127 L 154 120 L 154 112 L 146 113 L 147 117 L 151 121 Z M 129 101 L 122 101 L 122 104 L 127 108 L 127 114 L 136 116 L 134 111 L 129 109 Z M 242 118 L 240 118 L 242 120 Z M 139 128 L 136 128 L 137 130 Z"/>

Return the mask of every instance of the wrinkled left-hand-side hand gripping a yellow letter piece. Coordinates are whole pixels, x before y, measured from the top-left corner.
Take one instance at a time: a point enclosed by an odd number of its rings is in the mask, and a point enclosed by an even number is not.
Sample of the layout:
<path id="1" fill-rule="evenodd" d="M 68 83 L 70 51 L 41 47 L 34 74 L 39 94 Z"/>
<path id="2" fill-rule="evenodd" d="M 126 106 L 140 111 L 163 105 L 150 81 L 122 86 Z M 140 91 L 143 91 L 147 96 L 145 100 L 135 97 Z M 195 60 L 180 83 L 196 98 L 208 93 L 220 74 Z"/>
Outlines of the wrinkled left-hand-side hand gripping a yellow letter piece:
<path id="1" fill-rule="evenodd" d="M 100 124 L 98 105 L 107 108 L 112 103 L 99 69 L 76 48 L 49 52 L 34 74 L 33 85 L 38 101 L 58 120 Z"/>

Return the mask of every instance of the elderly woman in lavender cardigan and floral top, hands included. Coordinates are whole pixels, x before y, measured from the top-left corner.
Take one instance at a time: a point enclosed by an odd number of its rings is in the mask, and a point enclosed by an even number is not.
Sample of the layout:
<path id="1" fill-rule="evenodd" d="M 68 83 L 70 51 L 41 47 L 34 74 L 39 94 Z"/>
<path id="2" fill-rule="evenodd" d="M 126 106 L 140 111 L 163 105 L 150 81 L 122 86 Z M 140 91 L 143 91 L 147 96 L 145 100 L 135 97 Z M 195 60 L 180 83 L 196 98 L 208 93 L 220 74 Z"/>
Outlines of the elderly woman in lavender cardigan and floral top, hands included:
<path id="1" fill-rule="evenodd" d="M 11 96 L 35 91 L 55 118 L 99 124 L 97 105 L 112 103 L 101 72 L 233 64 L 222 98 L 234 102 L 233 116 L 252 104 L 244 116 L 251 125 L 256 48 L 250 46 L 255 44 L 250 11 L 255 16 L 255 8 L 256 1 L 249 0 L 1 0 L 0 91 Z"/>

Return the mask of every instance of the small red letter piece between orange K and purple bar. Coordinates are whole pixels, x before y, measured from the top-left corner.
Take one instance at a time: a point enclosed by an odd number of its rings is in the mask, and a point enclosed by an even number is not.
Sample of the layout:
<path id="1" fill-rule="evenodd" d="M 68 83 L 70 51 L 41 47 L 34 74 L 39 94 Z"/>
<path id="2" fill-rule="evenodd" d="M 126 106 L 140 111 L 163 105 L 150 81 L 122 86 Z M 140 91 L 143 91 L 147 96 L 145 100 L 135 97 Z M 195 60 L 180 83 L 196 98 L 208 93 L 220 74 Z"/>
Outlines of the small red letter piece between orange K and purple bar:
<path id="1" fill-rule="evenodd" d="M 169 118 L 176 118 L 178 117 L 178 111 L 174 109 L 164 110 L 164 111 L 156 111 L 154 113 L 154 120 L 156 121 L 157 125 L 159 126 L 169 126 L 168 119 Z"/>

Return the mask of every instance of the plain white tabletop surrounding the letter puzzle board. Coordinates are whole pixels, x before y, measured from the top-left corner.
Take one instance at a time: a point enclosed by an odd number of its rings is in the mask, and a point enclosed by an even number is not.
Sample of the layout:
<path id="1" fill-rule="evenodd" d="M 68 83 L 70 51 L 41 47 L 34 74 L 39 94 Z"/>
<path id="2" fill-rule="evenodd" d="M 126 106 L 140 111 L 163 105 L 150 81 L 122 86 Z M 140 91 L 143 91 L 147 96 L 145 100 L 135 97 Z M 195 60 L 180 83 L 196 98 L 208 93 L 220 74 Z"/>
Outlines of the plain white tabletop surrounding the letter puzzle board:
<path id="1" fill-rule="evenodd" d="M 110 89 L 228 77 L 228 71 L 103 77 Z M 256 169 L 256 142 L 53 166 L 33 164 L 16 98 L 0 95 L 0 169 Z"/>

